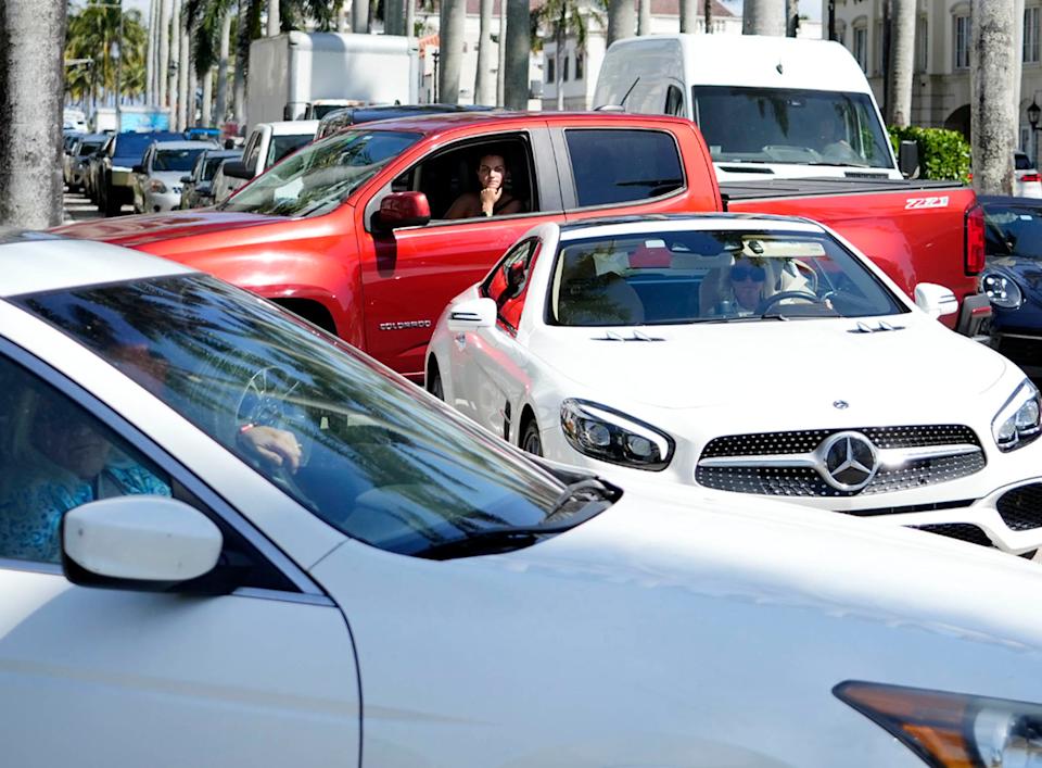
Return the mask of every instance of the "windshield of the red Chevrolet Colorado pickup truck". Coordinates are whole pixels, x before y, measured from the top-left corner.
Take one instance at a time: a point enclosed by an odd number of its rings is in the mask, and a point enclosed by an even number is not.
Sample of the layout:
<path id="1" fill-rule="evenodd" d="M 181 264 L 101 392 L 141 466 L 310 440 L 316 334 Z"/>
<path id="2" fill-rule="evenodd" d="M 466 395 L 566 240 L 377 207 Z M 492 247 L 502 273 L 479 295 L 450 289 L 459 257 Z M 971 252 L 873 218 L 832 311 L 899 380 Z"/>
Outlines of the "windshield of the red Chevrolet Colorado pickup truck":
<path id="1" fill-rule="evenodd" d="M 390 130 L 330 136 L 257 177 L 218 207 L 276 216 L 329 213 L 419 139 L 419 134 Z"/>

